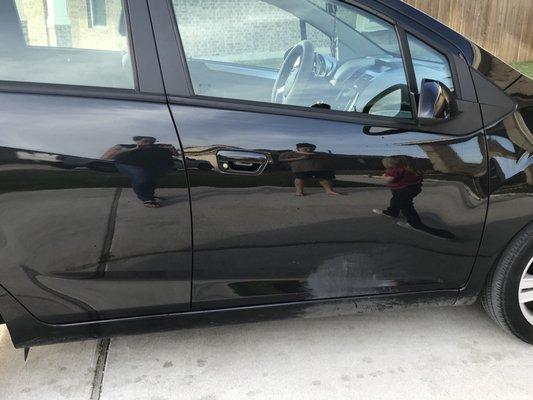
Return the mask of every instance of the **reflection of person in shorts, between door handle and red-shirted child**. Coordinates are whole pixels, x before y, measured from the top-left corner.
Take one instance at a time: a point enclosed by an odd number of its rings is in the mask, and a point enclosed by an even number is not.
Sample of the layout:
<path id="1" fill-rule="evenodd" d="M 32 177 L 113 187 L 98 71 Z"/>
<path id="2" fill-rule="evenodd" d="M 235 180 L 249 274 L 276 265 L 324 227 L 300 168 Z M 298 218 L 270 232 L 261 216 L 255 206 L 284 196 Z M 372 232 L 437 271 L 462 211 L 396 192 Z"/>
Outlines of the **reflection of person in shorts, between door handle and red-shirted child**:
<path id="1" fill-rule="evenodd" d="M 327 194 L 338 195 L 333 190 L 332 181 L 335 170 L 331 157 L 324 153 L 316 153 L 316 146 L 311 143 L 298 143 L 296 151 L 288 151 L 279 156 L 279 161 L 289 163 L 294 173 L 296 196 L 304 196 L 305 181 L 317 179 Z"/>

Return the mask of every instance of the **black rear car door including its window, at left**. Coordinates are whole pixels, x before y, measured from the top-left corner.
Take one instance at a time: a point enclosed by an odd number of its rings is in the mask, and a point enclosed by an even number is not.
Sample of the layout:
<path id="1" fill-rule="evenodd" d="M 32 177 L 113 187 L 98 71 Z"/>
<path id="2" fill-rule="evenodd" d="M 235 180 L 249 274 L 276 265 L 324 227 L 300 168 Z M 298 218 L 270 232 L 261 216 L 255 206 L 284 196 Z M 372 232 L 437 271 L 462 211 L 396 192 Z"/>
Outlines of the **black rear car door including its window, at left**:
<path id="1" fill-rule="evenodd" d="M 190 306 L 188 189 L 148 8 L 104 5 L 0 4 L 0 284 L 48 323 Z"/>

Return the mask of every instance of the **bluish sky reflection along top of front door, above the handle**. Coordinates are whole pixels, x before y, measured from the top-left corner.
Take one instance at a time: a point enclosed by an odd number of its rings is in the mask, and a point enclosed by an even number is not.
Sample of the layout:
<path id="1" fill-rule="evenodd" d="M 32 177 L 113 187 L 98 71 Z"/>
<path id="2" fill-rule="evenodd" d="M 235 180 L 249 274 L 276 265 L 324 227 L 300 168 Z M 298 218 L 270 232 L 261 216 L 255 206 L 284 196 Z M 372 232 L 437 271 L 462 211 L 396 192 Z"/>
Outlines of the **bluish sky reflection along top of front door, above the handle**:
<path id="1" fill-rule="evenodd" d="M 422 132 L 366 135 L 361 125 L 350 122 L 186 106 L 173 106 L 172 110 L 185 147 L 222 144 L 248 150 L 286 150 L 294 149 L 296 143 L 310 142 L 317 151 L 334 154 L 426 157 L 420 146 L 410 143 L 445 139 L 444 135 Z M 465 160 L 481 161 L 477 140 L 468 143 L 454 144 L 453 148 Z"/>

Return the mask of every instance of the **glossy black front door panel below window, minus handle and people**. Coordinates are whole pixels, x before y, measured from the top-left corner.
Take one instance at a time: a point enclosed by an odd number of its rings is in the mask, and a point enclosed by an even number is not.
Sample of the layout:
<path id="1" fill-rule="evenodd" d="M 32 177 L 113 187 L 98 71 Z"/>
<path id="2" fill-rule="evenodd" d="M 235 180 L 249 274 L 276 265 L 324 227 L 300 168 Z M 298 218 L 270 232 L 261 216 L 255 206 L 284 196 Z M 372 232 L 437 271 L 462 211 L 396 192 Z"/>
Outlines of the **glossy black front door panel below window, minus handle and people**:
<path id="1" fill-rule="evenodd" d="M 193 309 L 463 286 L 486 213 L 484 139 L 242 111 L 172 105 L 193 205 Z M 294 195 L 280 155 L 307 142 L 327 157 L 332 196 Z M 259 176 L 228 174 L 221 149 L 261 152 Z M 390 190 L 382 160 L 407 156 L 425 172 L 415 207 L 445 240 L 375 215 Z M 318 187 L 317 187 L 318 186 Z"/>

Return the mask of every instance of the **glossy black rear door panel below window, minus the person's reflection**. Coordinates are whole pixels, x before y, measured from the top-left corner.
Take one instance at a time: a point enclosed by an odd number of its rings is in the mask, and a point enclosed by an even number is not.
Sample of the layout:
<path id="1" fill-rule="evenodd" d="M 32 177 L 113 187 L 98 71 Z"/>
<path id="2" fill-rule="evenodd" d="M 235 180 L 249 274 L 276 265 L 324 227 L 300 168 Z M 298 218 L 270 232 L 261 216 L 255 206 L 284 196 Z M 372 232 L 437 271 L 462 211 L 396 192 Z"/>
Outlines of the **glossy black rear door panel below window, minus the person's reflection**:
<path id="1" fill-rule="evenodd" d="M 44 322 L 189 308 L 191 227 L 183 161 L 168 207 L 139 207 L 103 155 L 149 135 L 180 148 L 164 104 L 0 93 L 0 282 Z M 27 110 L 31 110 L 28 113 Z"/>

